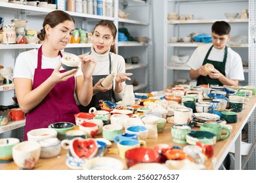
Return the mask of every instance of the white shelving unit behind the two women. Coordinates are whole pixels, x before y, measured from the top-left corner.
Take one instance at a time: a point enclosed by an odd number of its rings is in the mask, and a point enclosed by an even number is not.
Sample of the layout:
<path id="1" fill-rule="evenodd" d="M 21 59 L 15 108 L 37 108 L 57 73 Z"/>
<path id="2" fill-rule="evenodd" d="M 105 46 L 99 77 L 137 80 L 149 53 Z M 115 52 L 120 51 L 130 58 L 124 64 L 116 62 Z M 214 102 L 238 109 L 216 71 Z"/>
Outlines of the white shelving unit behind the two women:
<path id="1" fill-rule="evenodd" d="M 118 9 L 124 8 L 127 13 L 130 13 L 129 18 L 119 18 Z M 140 8 L 146 8 L 146 14 L 137 14 Z M 41 8 L 41 7 L 32 7 L 28 5 L 20 5 L 16 3 L 5 3 L 0 2 L 0 16 L 4 18 L 5 24 L 11 22 L 14 18 L 22 18 L 28 20 L 28 25 L 26 29 L 41 29 L 43 24 L 43 18 L 46 14 L 53 11 L 54 9 L 50 8 Z M 146 37 L 152 37 L 152 31 L 150 27 L 151 18 L 148 18 L 148 15 L 151 14 L 151 0 L 142 1 L 142 0 L 115 0 L 114 1 L 114 16 L 98 16 L 94 14 L 83 14 L 77 12 L 68 12 L 71 16 L 75 18 L 76 28 L 83 27 L 87 31 L 91 31 L 100 20 L 111 20 L 116 25 L 117 29 L 119 27 L 126 27 L 128 30 L 131 30 L 131 36 L 139 37 L 140 27 L 143 27 L 143 31 Z M 142 18 L 141 18 L 142 17 Z M 146 20 L 144 18 L 147 17 Z M 137 29 L 136 27 L 139 27 Z M 136 31 L 133 31 L 135 28 Z M 151 39 L 150 39 L 151 40 Z M 26 50 L 33 48 L 39 48 L 41 44 L 0 44 L 0 65 L 5 67 L 14 67 L 15 59 L 20 54 Z M 83 54 L 89 52 L 92 44 L 68 44 L 65 50 L 66 52 L 72 52 L 74 54 Z M 134 87 L 134 91 L 150 91 L 152 90 L 152 80 L 150 80 L 149 72 L 150 66 L 152 63 L 152 43 L 148 42 L 142 44 L 139 42 L 116 42 L 117 54 L 121 56 L 130 57 L 138 56 L 140 58 L 139 64 L 129 65 L 127 71 L 133 73 L 132 79 L 139 79 L 139 86 Z M 136 55 L 133 55 L 136 53 Z M 142 73 L 143 76 L 140 74 Z M 0 105 L 12 105 L 12 97 L 14 95 L 14 85 L 8 84 L 0 86 Z M 0 138 L 1 133 L 22 127 L 25 125 L 25 120 L 22 122 L 11 122 L 0 128 Z M 22 128 L 21 128 L 22 129 Z M 18 132 L 20 133 L 20 132 Z"/>

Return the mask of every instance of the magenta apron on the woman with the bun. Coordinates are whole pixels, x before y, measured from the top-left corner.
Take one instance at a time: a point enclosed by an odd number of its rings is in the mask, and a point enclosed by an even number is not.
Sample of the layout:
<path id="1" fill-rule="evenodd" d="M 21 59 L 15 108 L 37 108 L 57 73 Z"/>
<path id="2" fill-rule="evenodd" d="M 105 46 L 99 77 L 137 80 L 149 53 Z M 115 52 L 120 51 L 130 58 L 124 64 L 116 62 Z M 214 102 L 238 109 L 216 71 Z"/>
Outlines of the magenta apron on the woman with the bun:
<path id="1" fill-rule="evenodd" d="M 62 54 L 58 53 L 60 57 Z M 45 82 L 54 69 L 41 69 L 42 47 L 38 50 L 37 69 L 33 77 L 33 89 Z M 66 71 L 60 71 L 64 73 Z M 75 124 L 74 114 L 79 112 L 74 98 L 75 78 L 69 78 L 66 82 L 60 82 L 47 94 L 45 99 L 26 114 L 25 141 L 27 133 L 32 129 L 48 127 L 54 122 L 72 122 Z"/>

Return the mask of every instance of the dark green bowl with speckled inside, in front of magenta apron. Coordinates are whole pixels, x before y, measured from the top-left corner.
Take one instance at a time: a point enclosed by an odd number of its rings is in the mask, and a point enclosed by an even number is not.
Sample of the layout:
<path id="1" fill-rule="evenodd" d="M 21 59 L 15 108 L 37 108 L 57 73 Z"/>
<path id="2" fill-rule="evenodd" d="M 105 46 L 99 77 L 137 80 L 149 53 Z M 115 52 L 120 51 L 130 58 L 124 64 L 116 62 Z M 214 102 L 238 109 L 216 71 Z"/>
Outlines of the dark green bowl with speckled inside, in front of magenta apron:
<path id="1" fill-rule="evenodd" d="M 57 137 L 58 139 L 62 140 L 65 137 L 65 132 L 74 129 L 75 125 L 70 122 L 57 122 L 54 124 L 50 124 L 48 126 L 50 129 L 54 129 L 57 131 Z"/>

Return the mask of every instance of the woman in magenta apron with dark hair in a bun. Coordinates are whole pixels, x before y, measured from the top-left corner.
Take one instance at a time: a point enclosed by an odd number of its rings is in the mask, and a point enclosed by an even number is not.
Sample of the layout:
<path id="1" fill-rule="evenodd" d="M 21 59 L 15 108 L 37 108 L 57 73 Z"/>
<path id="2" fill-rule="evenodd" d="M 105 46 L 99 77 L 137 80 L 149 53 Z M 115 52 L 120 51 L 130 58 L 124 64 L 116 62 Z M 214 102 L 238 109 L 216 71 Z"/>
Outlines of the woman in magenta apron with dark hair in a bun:
<path id="1" fill-rule="evenodd" d="M 66 12 L 54 10 L 45 16 L 43 29 L 37 37 L 43 41 L 36 50 L 19 54 L 14 67 L 14 88 L 20 108 L 26 112 L 25 140 L 32 129 L 48 127 L 54 122 L 72 122 L 81 105 L 88 105 L 93 96 L 92 56 L 80 61 L 78 69 L 62 68 L 62 52 L 70 41 L 75 21 Z"/>

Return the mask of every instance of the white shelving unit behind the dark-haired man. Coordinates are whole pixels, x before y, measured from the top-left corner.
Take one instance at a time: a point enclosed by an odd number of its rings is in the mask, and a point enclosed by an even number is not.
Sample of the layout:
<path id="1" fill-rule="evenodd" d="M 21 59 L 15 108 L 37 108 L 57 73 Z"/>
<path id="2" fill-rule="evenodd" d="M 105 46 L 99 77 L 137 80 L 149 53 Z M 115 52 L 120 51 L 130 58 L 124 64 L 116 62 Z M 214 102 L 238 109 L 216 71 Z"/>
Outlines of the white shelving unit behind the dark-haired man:
<path id="1" fill-rule="evenodd" d="M 227 4 L 230 4 L 227 7 Z M 241 3 L 241 5 L 246 4 L 245 7 L 234 7 L 231 3 Z M 190 5 L 190 8 L 187 8 L 186 5 Z M 209 6 L 219 6 L 218 13 L 215 14 L 215 11 L 205 12 L 202 11 L 204 8 L 207 9 Z M 234 5 L 234 4 L 233 4 Z M 196 7 L 197 6 L 197 7 Z M 225 7 L 226 6 L 226 7 Z M 213 7 L 213 8 L 215 8 Z M 245 0 L 233 0 L 233 1 L 223 1 L 223 0 L 196 0 L 196 1 L 175 1 L 175 0 L 165 0 L 164 1 L 164 27 L 163 27 L 163 88 L 167 88 L 169 84 L 173 84 L 175 78 L 179 78 L 179 76 L 187 76 L 189 78 L 189 68 L 188 67 L 170 67 L 168 65 L 168 61 L 171 58 L 171 55 L 179 55 L 186 50 L 186 53 L 189 53 L 190 56 L 192 51 L 198 46 L 202 46 L 205 43 L 202 42 L 169 42 L 169 38 L 176 36 L 176 37 L 184 37 L 192 33 L 192 31 L 202 31 L 199 27 L 208 27 L 207 32 L 204 33 L 211 33 L 211 24 L 216 21 L 226 21 L 231 25 L 231 33 L 236 31 L 234 25 L 245 25 L 245 28 L 248 27 L 248 19 L 226 19 L 224 18 L 224 12 L 241 12 L 242 8 L 248 8 L 247 1 Z M 198 8 L 198 9 L 197 9 Z M 231 8 L 233 8 L 231 10 Z M 201 9 L 199 11 L 199 9 Z M 228 9 L 228 10 L 227 10 Z M 223 11 L 223 14 L 221 14 Z M 171 12 L 177 12 L 179 14 L 194 14 L 195 20 L 167 20 L 167 14 Z M 204 12 L 202 14 L 202 12 Z M 232 29 L 233 27 L 233 29 Z M 186 29 L 186 31 L 184 31 Z M 190 32 L 189 32 L 190 31 Z M 205 31 L 205 29 L 203 29 Z M 244 31 L 244 29 L 243 29 Z M 248 29 L 244 31 L 245 35 L 248 33 Z M 234 35 L 232 35 L 234 36 Z M 249 44 L 228 44 L 232 49 L 235 49 L 236 52 L 240 53 L 238 50 L 242 49 L 242 52 L 247 52 L 247 48 Z M 189 50 L 189 51 L 188 51 Z M 247 57 L 245 53 L 245 57 Z M 249 58 L 243 59 L 243 61 L 249 61 Z M 180 71 L 180 72 L 177 72 Z M 248 69 L 244 68 L 245 73 L 248 73 Z M 173 80 L 171 80 L 172 78 Z M 246 79 L 246 75 L 245 75 Z"/>

